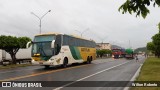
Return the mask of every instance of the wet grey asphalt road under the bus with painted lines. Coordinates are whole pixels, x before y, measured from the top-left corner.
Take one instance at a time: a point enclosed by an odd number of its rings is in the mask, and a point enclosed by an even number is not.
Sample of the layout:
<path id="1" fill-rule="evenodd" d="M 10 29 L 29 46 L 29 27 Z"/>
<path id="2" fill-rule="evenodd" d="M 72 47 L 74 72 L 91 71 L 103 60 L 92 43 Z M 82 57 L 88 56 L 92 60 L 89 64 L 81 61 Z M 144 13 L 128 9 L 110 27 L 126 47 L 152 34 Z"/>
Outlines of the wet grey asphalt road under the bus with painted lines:
<path id="1" fill-rule="evenodd" d="M 52 83 L 54 82 L 51 82 L 49 83 L 51 87 L 14 87 L 0 88 L 0 90 L 123 90 L 125 87 L 106 87 L 106 82 L 101 81 L 130 81 L 144 60 L 145 58 L 143 56 L 139 56 L 139 62 L 125 59 L 113 60 L 110 58 L 95 60 L 92 64 L 70 65 L 67 68 L 52 67 L 50 69 L 44 69 L 43 66 L 28 66 L 0 70 L 0 81 L 64 82 L 58 87 L 52 87 Z M 79 82 L 86 87 L 76 86 Z M 43 84 L 47 83 L 43 82 Z"/>

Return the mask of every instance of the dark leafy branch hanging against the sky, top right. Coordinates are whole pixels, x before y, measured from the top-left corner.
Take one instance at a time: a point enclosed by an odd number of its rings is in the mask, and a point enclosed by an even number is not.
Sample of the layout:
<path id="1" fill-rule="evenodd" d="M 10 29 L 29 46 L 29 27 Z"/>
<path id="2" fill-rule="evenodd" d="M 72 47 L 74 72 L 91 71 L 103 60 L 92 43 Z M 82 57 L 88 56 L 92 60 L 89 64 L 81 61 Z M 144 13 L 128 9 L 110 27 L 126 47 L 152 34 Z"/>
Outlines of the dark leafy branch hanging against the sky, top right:
<path id="1" fill-rule="evenodd" d="M 160 6 L 160 0 L 127 0 L 124 4 L 119 7 L 119 11 L 122 10 L 122 13 L 129 12 L 130 14 L 136 13 L 137 16 L 142 16 L 145 18 L 149 14 L 148 6 L 153 3 L 155 7 Z"/>

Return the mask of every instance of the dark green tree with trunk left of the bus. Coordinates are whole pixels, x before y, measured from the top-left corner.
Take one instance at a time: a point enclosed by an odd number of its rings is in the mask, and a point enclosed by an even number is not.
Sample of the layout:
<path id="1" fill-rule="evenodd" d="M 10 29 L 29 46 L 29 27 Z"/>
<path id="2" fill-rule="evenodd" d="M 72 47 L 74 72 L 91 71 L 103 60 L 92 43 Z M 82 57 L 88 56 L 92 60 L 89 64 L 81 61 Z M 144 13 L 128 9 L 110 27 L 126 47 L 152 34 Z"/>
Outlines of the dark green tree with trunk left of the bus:
<path id="1" fill-rule="evenodd" d="M 28 37 L 0 36 L 0 49 L 10 54 L 12 63 L 16 64 L 16 53 L 20 48 L 26 48 L 27 42 L 31 41 Z"/>

